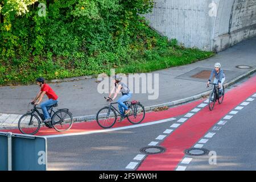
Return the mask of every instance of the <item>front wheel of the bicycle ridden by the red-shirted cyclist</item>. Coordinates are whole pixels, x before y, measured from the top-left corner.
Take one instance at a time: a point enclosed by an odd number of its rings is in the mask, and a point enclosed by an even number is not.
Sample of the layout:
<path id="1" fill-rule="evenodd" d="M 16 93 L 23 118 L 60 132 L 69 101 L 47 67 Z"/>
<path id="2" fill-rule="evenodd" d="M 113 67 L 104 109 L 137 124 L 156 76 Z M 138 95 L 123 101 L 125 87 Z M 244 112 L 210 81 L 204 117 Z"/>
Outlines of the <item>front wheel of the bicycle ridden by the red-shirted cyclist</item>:
<path id="1" fill-rule="evenodd" d="M 18 127 L 21 133 L 34 135 L 40 129 L 40 119 L 32 113 L 24 114 L 19 118 Z"/>

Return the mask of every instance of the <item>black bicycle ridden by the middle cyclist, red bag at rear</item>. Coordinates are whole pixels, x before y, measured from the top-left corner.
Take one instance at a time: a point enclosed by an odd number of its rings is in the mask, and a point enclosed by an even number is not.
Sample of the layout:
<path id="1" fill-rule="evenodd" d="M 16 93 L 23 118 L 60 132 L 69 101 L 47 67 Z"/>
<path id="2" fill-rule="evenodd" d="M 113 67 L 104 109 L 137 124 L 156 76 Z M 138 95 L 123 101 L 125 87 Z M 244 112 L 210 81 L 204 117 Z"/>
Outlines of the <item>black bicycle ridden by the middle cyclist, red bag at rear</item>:
<path id="1" fill-rule="evenodd" d="M 113 100 L 111 98 L 108 98 L 109 101 L 106 97 L 104 98 L 107 100 L 109 106 L 103 107 L 98 111 L 96 120 L 98 125 L 104 129 L 108 129 L 117 121 L 117 113 L 119 113 L 119 115 L 121 115 L 121 113 L 113 106 L 114 104 L 118 104 L 117 102 L 112 102 Z M 133 124 L 141 123 L 146 113 L 144 106 L 138 101 L 126 101 L 124 103 L 128 109 L 131 109 L 130 113 L 126 115 L 125 118 L 127 117 L 128 121 Z"/>

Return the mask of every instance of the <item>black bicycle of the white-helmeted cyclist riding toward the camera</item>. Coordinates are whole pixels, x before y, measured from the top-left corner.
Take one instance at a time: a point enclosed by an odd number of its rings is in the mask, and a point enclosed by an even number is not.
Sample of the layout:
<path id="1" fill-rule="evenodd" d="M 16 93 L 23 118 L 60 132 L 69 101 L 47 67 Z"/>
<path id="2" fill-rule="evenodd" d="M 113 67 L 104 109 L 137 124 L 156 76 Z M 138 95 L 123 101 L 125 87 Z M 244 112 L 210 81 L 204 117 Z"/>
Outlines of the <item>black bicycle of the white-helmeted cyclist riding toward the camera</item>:
<path id="1" fill-rule="evenodd" d="M 213 85 L 213 89 L 212 89 L 212 92 L 210 93 L 210 97 L 209 97 L 209 109 L 213 110 L 213 107 L 217 100 L 218 100 L 218 104 L 222 104 L 222 102 L 224 100 L 225 89 L 224 89 L 224 85 L 222 85 L 222 93 L 220 95 L 219 93 L 221 91 L 220 91 L 220 88 L 218 88 L 218 84 L 210 83 L 210 85 Z"/>

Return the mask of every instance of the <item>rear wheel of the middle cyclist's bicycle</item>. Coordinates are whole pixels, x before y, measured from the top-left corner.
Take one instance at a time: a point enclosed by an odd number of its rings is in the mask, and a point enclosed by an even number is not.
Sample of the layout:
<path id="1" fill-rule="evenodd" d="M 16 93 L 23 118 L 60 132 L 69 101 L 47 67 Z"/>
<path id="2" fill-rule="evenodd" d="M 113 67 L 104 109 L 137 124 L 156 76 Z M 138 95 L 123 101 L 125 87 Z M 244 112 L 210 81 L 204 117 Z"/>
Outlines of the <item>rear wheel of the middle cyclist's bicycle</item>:
<path id="1" fill-rule="evenodd" d="M 145 109 L 144 106 L 140 103 L 131 105 L 130 114 L 127 116 L 129 122 L 133 124 L 141 123 L 145 117 Z"/>

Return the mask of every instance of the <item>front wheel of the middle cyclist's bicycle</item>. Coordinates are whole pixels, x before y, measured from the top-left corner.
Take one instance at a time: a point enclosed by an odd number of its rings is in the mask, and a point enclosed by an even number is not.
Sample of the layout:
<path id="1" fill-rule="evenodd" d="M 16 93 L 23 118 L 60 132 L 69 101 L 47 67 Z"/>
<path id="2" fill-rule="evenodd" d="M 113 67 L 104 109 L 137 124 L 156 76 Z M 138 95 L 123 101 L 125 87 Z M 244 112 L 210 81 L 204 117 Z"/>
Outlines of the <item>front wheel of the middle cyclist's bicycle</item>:
<path id="1" fill-rule="evenodd" d="M 117 121 L 117 113 L 111 107 L 106 106 L 98 111 L 96 120 L 100 127 L 109 129 Z"/>

